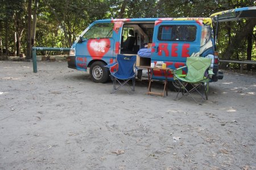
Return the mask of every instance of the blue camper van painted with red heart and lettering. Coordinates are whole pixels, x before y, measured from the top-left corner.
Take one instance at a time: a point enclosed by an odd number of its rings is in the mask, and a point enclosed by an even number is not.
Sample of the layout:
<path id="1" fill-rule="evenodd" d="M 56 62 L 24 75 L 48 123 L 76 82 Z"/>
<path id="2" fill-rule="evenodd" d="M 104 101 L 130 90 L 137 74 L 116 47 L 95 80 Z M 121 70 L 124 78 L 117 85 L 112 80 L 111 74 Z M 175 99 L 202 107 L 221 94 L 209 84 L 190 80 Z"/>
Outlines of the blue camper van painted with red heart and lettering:
<path id="1" fill-rule="evenodd" d="M 211 69 L 215 74 L 211 81 L 216 82 L 223 76 L 218 72 L 217 33 L 213 24 L 218 23 L 222 14 L 226 19 L 234 19 L 234 15 L 227 14 L 235 12 L 237 19 L 241 12 L 248 10 L 240 9 L 219 12 L 212 18 L 97 20 L 72 45 L 68 67 L 81 71 L 87 71 L 89 67 L 93 82 L 104 83 L 109 78 L 109 70 L 104 66 L 114 62 L 117 54 L 137 54 L 139 49 L 148 45 L 150 58 L 137 57 L 137 65 L 163 61 L 167 67 L 177 69 L 185 65 L 187 57 L 208 57 L 212 58 Z M 164 79 L 164 74 L 154 71 L 154 79 Z M 168 75 L 168 80 L 174 82 L 172 74 Z"/>

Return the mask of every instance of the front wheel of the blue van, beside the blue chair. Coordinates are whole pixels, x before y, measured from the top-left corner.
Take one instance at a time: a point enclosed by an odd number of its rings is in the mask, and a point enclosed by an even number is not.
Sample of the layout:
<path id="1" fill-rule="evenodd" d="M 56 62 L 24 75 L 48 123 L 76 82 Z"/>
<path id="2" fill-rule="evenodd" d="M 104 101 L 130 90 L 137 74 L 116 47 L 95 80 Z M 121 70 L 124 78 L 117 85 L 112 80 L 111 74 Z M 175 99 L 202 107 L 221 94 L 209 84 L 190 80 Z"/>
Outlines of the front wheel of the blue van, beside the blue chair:
<path id="1" fill-rule="evenodd" d="M 104 67 L 106 64 L 96 61 L 90 66 L 90 77 L 95 83 L 105 83 L 109 79 L 109 70 Z"/>

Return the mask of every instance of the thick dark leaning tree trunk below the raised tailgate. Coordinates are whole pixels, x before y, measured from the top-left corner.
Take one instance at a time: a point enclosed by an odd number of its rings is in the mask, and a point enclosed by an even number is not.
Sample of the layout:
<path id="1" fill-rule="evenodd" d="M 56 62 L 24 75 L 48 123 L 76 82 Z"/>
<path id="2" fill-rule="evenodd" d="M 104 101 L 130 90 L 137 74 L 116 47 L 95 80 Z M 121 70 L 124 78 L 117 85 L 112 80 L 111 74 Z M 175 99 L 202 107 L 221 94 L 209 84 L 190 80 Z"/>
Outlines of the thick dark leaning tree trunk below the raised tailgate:
<path id="1" fill-rule="evenodd" d="M 221 55 L 222 59 L 230 59 L 230 57 L 233 55 L 234 50 L 237 49 L 243 38 L 245 38 L 248 33 L 250 33 L 251 29 L 255 27 L 256 19 L 250 19 L 247 21 L 245 27 L 238 33 L 236 33 L 236 36 L 233 37 L 231 43 L 229 44 L 228 48 L 226 48 L 225 52 Z"/>

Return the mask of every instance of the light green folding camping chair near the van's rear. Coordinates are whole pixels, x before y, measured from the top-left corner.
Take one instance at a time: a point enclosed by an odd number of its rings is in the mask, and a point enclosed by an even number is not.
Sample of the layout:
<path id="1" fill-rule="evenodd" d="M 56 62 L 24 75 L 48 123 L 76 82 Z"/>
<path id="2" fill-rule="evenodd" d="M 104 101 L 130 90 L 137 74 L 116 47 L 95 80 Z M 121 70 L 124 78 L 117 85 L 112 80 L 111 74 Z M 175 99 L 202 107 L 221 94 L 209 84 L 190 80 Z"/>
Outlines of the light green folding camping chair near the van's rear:
<path id="1" fill-rule="evenodd" d="M 209 70 L 211 63 L 210 58 L 205 57 L 188 57 L 186 66 L 180 67 L 176 70 L 174 70 L 174 79 L 177 80 L 177 83 L 179 84 L 180 88 L 177 93 L 176 99 L 179 100 L 183 96 L 191 96 L 193 100 L 196 101 L 197 104 L 201 104 L 203 99 L 208 100 L 208 91 L 209 91 L 209 79 L 210 76 L 214 73 L 212 70 Z M 187 67 L 187 74 L 182 74 L 182 69 Z M 184 86 L 184 84 L 191 84 L 192 89 L 188 90 Z M 201 89 L 203 87 L 203 89 Z M 197 91 L 200 96 L 200 102 L 195 99 L 191 95 L 193 91 Z M 182 94 L 182 96 L 177 99 L 179 94 Z"/>

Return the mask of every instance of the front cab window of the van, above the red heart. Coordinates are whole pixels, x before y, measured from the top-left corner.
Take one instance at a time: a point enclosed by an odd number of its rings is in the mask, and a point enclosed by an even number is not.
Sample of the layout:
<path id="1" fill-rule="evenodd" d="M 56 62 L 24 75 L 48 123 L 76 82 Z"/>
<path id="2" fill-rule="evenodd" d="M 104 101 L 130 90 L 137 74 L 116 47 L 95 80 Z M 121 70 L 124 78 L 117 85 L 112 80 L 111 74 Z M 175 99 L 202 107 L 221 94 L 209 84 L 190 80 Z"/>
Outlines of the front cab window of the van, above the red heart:
<path id="1" fill-rule="evenodd" d="M 82 39 L 102 39 L 111 38 L 113 36 L 114 23 L 97 23 L 94 24 L 85 34 Z"/>

